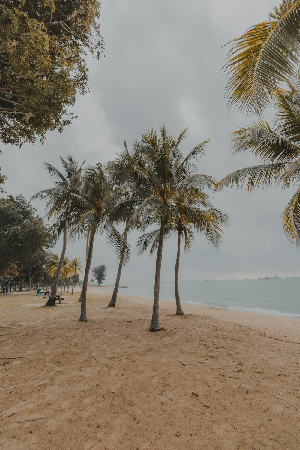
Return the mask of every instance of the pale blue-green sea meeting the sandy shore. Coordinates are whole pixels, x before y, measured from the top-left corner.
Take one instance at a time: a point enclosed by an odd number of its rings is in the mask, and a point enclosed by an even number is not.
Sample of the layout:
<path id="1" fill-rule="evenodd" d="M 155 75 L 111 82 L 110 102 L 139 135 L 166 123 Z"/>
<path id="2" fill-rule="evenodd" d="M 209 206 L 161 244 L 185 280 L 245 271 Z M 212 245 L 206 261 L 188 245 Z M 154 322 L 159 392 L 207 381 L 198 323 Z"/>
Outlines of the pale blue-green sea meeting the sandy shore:
<path id="1" fill-rule="evenodd" d="M 126 284 L 119 293 L 153 298 L 154 283 Z M 113 289 L 107 288 L 112 292 Z M 179 282 L 180 300 L 234 311 L 300 319 L 300 278 Z M 159 298 L 175 302 L 174 282 L 162 282 Z"/>

